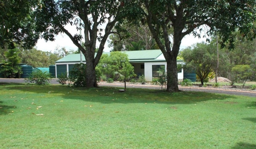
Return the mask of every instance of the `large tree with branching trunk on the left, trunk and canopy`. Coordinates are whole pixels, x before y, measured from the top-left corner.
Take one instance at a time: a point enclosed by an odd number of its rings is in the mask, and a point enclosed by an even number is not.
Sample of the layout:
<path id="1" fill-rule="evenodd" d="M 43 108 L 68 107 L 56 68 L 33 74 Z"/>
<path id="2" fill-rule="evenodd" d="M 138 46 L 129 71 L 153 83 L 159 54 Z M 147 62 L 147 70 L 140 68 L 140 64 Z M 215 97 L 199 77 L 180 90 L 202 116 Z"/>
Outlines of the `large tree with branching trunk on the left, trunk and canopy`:
<path id="1" fill-rule="evenodd" d="M 133 1 L 117 0 L 44 0 L 44 6 L 35 12 L 37 31 L 42 32 L 45 40 L 54 40 L 54 35 L 64 32 L 82 51 L 86 59 L 86 86 L 97 86 L 95 68 L 104 50 L 105 42 L 113 27 L 121 28 L 127 8 L 134 6 Z M 122 5 L 121 5 L 122 4 Z M 81 19 L 81 24 L 79 23 Z M 105 23 L 105 27 L 101 24 Z M 76 29 L 84 29 L 84 47 L 79 44 L 83 36 L 72 35 L 65 29 L 70 24 Z M 79 26 L 82 26 L 81 28 Z M 96 42 L 99 50 L 96 52 Z"/>

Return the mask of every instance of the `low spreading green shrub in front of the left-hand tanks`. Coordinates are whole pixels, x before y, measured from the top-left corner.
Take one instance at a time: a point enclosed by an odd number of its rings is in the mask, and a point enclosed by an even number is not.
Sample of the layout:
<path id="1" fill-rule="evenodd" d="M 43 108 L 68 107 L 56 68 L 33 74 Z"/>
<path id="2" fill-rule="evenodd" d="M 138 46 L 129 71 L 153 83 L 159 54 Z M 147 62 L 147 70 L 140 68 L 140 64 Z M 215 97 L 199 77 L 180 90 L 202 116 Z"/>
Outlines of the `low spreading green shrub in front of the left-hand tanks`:
<path id="1" fill-rule="evenodd" d="M 25 79 L 25 81 L 27 83 L 30 82 L 38 85 L 45 85 L 50 83 L 50 78 L 51 78 L 50 73 L 47 73 L 47 72 L 43 73 L 42 71 L 36 71 L 36 72 L 32 72 L 29 75 L 29 77 Z"/>

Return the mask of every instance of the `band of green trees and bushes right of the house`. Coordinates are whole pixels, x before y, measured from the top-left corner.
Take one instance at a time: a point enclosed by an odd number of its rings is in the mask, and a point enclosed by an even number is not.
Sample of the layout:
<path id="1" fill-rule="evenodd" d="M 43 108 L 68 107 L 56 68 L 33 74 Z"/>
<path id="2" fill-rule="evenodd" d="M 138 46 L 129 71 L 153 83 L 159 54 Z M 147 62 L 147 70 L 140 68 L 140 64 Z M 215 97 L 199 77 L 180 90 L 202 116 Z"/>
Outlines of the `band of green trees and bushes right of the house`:
<path id="1" fill-rule="evenodd" d="M 246 40 L 238 35 L 235 40 L 235 48 L 229 49 L 228 46 L 218 47 L 218 58 L 217 42 L 213 38 L 211 43 L 201 42 L 187 47 L 180 52 L 180 56 L 186 63 L 185 69 L 195 70 L 202 84 L 214 78 L 216 71 L 217 76 L 228 78 L 230 81 L 234 81 L 237 77 L 255 81 L 256 40 Z M 217 59 L 219 59 L 219 63 L 217 63 Z"/>

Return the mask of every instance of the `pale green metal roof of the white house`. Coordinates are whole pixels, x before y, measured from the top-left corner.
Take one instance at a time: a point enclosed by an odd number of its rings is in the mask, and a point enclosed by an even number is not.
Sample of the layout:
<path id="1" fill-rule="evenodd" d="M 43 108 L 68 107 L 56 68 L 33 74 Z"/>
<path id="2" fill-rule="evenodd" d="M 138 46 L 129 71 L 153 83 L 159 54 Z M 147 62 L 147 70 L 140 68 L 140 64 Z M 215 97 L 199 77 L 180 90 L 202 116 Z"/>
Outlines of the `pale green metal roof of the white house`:
<path id="1" fill-rule="evenodd" d="M 161 50 L 122 51 L 122 53 L 126 53 L 130 61 L 155 60 L 162 54 Z M 103 52 L 103 54 L 110 54 L 110 52 Z M 84 55 L 82 60 L 85 62 Z M 80 54 L 70 54 L 56 61 L 56 63 L 60 62 L 80 62 Z"/>

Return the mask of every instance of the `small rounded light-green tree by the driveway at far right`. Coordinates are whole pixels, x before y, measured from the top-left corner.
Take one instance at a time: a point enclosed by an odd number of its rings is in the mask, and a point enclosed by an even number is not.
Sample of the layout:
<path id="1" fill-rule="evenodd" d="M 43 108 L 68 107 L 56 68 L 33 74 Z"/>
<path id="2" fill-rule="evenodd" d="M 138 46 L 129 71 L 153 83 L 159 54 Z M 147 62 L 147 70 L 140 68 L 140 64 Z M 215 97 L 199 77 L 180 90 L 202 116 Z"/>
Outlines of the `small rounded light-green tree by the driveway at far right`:
<path id="1" fill-rule="evenodd" d="M 232 68 L 231 72 L 237 77 L 238 83 L 243 83 L 245 86 L 246 81 L 252 76 L 250 65 L 236 65 Z"/>

